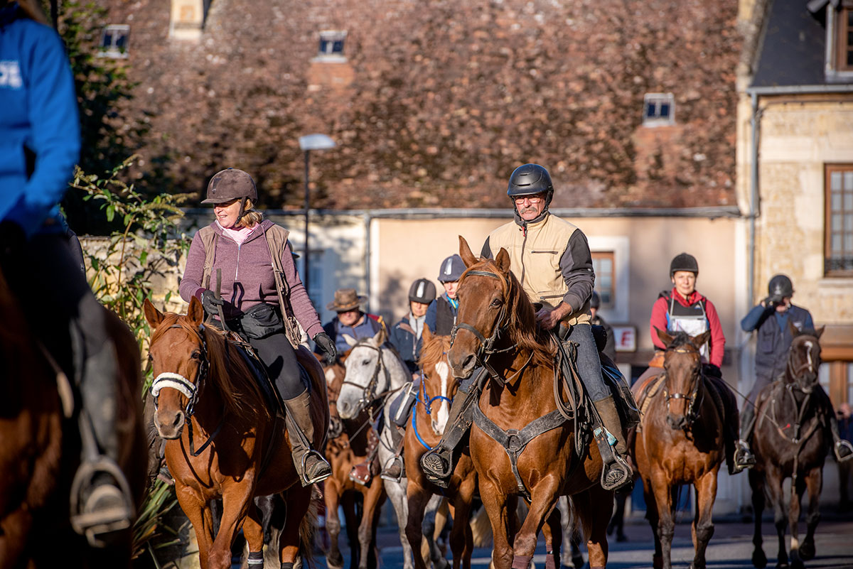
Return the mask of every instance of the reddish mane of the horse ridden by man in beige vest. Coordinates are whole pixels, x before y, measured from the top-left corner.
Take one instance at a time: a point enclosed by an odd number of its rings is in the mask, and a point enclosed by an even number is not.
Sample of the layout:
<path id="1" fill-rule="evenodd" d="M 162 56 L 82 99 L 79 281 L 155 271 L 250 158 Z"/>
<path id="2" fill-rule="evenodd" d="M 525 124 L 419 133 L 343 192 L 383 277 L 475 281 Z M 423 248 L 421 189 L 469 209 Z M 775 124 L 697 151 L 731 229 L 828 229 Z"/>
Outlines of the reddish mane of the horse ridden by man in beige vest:
<path id="1" fill-rule="evenodd" d="M 510 271 L 508 277 L 504 277 L 496 262 L 491 259 L 480 259 L 471 267 L 468 267 L 460 278 L 464 279 L 468 271 L 482 270 L 488 267 L 491 273 L 498 275 L 504 290 L 507 302 L 508 330 L 510 339 L 519 349 L 527 349 L 533 352 L 533 361 L 537 365 L 553 365 L 556 355 L 556 346 L 553 338 L 547 330 L 543 330 L 536 321 L 536 311 L 533 303 L 527 298 L 524 289 L 521 288 L 519 279 Z"/>

